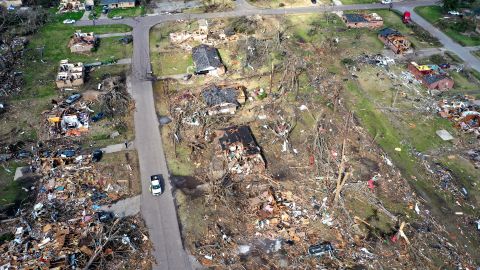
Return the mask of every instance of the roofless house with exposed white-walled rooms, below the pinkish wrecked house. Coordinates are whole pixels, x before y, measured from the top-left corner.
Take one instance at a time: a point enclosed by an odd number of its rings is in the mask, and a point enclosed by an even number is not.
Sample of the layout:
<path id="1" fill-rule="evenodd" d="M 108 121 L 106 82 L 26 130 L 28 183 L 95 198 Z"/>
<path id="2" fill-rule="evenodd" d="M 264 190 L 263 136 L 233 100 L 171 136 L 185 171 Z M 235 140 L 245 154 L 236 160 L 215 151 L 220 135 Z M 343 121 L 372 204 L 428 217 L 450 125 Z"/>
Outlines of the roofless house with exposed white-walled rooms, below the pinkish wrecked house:
<path id="1" fill-rule="evenodd" d="M 62 60 L 55 83 L 58 88 L 80 86 L 83 84 L 84 75 L 83 63 L 69 63 L 68 60 Z"/>

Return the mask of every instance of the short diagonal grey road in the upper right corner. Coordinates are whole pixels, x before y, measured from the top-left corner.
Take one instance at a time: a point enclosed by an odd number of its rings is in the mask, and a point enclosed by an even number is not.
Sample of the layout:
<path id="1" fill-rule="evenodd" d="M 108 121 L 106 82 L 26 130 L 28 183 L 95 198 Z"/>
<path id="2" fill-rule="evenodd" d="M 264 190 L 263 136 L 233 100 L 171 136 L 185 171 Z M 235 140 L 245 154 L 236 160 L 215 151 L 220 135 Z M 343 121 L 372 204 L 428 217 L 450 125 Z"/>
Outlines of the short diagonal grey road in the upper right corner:
<path id="1" fill-rule="evenodd" d="M 440 43 L 442 43 L 443 47 L 451 52 L 454 52 L 458 57 L 460 57 L 466 66 L 469 66 L 477 71 L 480 71 L 480 60 L 477 57 L 473 56 L 471 52 L 471 48 L 469 47 L 462 47 L 460 44 L 453 41 L 450 37 L 445 35 L 442 31 L 434 27 L 430 24 L 427 20 L 422 18 L 418 15 L 412 8 L 407 8 L 403 6 L 396 7 L 401 12 L 409 10 L 411 12 L 412 20 L 420 25 L 422 28 L 427 30 L 432 36 L 438 38 Z"/>

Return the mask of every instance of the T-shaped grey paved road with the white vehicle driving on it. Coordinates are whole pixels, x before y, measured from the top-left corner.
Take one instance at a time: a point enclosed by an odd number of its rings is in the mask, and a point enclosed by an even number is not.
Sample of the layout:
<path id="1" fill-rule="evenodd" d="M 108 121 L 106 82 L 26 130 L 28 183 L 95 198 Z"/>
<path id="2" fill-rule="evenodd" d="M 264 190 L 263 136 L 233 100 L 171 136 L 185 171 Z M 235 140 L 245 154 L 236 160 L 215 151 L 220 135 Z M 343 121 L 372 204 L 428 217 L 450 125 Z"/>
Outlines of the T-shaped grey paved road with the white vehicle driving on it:
<path id="1" fill-rule="evenodd" d="M 434 0 L 416 0 L 396 3 L 398 9 L 413 10 L 415 6 L 432 5 Z M 150 239 L 154 245 L 153 254 L 157 260 L 154 269 L 191 269 L 189 257 L 186 254 L 181 240 L 180 229 L 176 214 L 176 206 L 171 192 L 167 163 L 163 151 L 162 139 L 158 128 L 155 112 L 152 83 L 148 75 L 151 72 L 149 33 L 156 24 L 190 19 L 210 19 L 239 17 L 248 15 L 284 15 L 316 12 L 332 12 L 345 10 L 364 10 L 385 8 L 381 4 L 342 5 L 342 6 L 315 6 L 298 8 L 260 9 L 249 5 L 245 0 L 237 0 L 233 11 L 204 14 L 174 14 L 155 15 L 141 18 L 122 20 L 100 19 L 97 25 L 127 24 L 133 27 L 134 51 L 132 59 L 132 89 L 136 102 L 135 141 L 140 161 L 142 180 L 141 213 L 149 228 Z M 417 17 L 413 15 L 413 19 Z M 77 25 L 92 25 L 91 21 L 80 21 Z M 421 24 L 422 25 L 422 24 Z M 423 25 L 422 25 L 423 26 Z M 435 31 L 431 31 L 435 34 Z M 456 51 L 456 50 L 453 50 Z M 165 193 L 160 197 L 153 197 L 149 193 L 149 177 L 152 174 L 162 173 L 165 177 Z"/>

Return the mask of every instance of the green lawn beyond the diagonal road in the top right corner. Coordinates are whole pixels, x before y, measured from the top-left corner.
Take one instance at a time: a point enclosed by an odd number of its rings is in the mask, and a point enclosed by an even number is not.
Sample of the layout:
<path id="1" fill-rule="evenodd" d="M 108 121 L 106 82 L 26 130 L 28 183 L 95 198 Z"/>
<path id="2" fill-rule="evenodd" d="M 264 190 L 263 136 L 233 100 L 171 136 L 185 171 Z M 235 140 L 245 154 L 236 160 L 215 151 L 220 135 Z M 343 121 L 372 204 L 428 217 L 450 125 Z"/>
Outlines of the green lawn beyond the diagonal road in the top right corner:
<path id="1" fill-rule="evenodd" d="M 470 31 L 471 34 L 463 34 L 455 30 L 452 25 L 453 22 L 441 22 L 444 20 L 445 14 L 443 13 L 443 9 L 439 6 L 425 6 L 425 7 L 416 7 L 415 12 L 417 12 L 420 16 L 422 16 L 425 20 L 429 21 L 437 28 L 441 29 L 447 36 L 451 39 L 456 41 L 462 46 L 478 46 L 480 45 L 480 35 L 477 33 Z M 440 24 L 446 24 L 448 27 L 443 27 Z"/>

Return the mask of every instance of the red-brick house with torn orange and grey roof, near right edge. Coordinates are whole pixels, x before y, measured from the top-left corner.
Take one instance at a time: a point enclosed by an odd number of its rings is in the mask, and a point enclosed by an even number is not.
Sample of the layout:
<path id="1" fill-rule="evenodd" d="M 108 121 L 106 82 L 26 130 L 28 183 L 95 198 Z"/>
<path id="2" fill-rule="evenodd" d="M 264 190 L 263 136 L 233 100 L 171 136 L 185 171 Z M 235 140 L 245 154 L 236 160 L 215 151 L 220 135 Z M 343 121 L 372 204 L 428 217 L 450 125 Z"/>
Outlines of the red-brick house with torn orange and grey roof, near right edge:
<path id="1" fill-rule="evenodd" d="M 419 65 L 410 62 L 408 70 L 428 89 L 445 91 L 453 88 L 453 79 L 438 65 Z"/>

